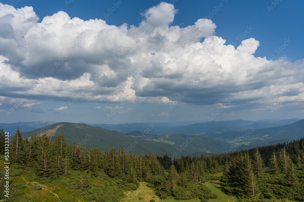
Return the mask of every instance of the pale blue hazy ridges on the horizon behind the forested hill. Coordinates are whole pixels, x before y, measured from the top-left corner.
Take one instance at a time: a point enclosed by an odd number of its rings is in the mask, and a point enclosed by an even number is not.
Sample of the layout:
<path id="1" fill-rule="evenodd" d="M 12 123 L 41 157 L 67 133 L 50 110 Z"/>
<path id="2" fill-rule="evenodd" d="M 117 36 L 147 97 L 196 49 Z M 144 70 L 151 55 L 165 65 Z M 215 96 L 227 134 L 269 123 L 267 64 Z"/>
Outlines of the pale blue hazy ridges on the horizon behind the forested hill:
<path id="1" fill-rule="evenodd" d="M 108 130 L 115 130 L 127 134 L 132 131 L 145 131 L 149 124 L 153 125 L 153 130 L 150 133 L 153 134 L 210 134 L 214 132 L 235 132 L 246 130 L 250 126 L 254 128 L 268 128 L 284 126 L 295 123 L 302 119 L 293 118 L 288 120 L 258 120 L 258 121 L 185 121 L 185 122 L 163 122 L 163 123 L 127 123 L 127 124 L 90 124 L 81 122 L 91 126 L 98 126 Z M 13 124 L 0 123 L 0 127 L 4 127 L 7 131 L 15 132 L 19 127 L 20 131 L 31 131 L 40 127 L 55 124 L 54 121 L 33 121 L 33 122 L 17 122 Z"/>

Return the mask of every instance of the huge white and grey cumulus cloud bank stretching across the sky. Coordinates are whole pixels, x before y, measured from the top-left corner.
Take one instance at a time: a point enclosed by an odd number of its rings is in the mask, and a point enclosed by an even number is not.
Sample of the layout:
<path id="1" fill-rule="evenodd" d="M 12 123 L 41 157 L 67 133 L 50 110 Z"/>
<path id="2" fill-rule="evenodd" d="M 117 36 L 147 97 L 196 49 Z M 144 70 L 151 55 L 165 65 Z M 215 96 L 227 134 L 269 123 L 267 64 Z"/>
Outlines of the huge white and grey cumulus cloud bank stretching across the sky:
<path id="1" fill-rule="evenodd" d="M 227 103 L 241 88 L 227 109 L 268 110 L 282 96 L 285 106 L 304 107 L 304 60 L 255 57 L 265 44 L 254 38 L 237 48 L 226 44 L 209 19 L 173 26 L 178 11 L 165 2 L 144 11 L 138 26 L 84 21 L 63 11 L 40 21 L 32 7 L 1 3 L 0 10 L 0 110 L 20 98 L 18 109 L 71 101 L 83 89 L 78 101 L 172 104 L 183 97 L 179 105 L 212 105 Z"/>

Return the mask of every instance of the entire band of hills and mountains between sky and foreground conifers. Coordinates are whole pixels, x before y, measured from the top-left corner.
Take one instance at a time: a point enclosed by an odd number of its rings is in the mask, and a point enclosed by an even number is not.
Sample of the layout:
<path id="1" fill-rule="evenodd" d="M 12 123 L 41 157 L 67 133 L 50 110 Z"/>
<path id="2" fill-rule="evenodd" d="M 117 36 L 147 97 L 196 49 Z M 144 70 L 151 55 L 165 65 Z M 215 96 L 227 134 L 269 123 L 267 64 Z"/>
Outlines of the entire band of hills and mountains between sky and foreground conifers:
<path id="1" fill-rule="evenodd" d="M 54 123 L 56 122 L 36 121 L 18 122 L 15 124 L 0 123 L 0 127 L 3 127 L 5 131 L 10 131 L 11 135 L 15 133 L 17 126 L 20 131 L 23 132 L 22 134 L 27 136 L 33 133 L 40 133 L 46 129 L 48 134 L 51 132 L 53 134 L 60 134 L 62 131 L 67 135 L 67 140 L 71 143 L 74 141 L 79 143 L 85 138 L 83 137 L 84 134 L 92 133 L 94 134 L 94 137 L 99 138 L 92 138 L 87 141 L 86 145 L 87 147 L 98 146 L 100 149 L 113 147 L 113 145 L 115 147 L 119 145 L 128 147 L 130 146 L 129 143 L 137 138 L 142 141 L 137 147 L 136 152 L 138 152 L 138 154 L 143 152 L 153 153 L 153 151 L 158 154 L 161 154 L 161 152 L 176 152 L 178 144 L 182 144 L 187 140 L 185 139 L 188 137 L 187 135 L 198 136 L 193 136 L 196 138 L 195 144 L 192 142 L 192 144 L 183 148 L 183 155 L 207 151 L 221 153 L 227 151 L 227 149 L 229 150 L 230 144 L 245 149 L 265 144 L 282 143 L 304 136 L 304 120 L 297 118 L 288 120 L 212 121 L 210 123 L 207 121 L 132 124 L 78 123 L 69 127 L 68 123 L 65 123 L 62 126 L 59 126 L 62 123 Z M 43 127 L 43 129 L 41 129 L 41 127 Z M 250 134 L 248 133 L 249 130 L 251 130 Z M 26 131 L 29 132 L 26 133 Z M 143 132 L 146 133 L 145 136 L 140 137 L 144 134 Z M 107 139 L 107 135 L 112 139 Z M 121 138 L 122 140 L 119 140 Z"/>

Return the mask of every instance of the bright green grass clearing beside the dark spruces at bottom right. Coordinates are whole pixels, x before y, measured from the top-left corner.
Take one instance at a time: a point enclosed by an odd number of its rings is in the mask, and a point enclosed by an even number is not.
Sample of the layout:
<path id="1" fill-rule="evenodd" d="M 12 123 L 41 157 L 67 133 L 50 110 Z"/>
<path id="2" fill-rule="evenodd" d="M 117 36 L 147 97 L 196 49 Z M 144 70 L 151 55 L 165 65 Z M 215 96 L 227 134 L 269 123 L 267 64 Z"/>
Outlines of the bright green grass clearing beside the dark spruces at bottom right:
<path id="1" fill-rule="evenodd" d="M 220 186 L 216 186 L 214 184 L 220 184 Z M 212 193 L 218 196 L 218 198 L 210 198 L 208 200 L 209 202 L 227 202 L 227 199 L 232 202 L 237 199 L 236 197 L 225 194 L 224 187 L 219 181 L 208 181 L 206 186 L 212 191 Z"/>

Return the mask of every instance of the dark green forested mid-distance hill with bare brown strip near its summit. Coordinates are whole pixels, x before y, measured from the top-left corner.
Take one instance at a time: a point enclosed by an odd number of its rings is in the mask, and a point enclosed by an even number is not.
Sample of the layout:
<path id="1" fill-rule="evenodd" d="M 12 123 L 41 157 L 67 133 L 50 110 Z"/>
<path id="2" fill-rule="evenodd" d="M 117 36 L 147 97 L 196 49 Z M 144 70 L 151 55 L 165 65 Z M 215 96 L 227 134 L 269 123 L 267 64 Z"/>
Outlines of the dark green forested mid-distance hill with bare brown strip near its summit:
<path id="1" fill-rule="evenodd" d="M 138 138 L 125 135 L 119 131 L 110 131 L 101 127 L 89 126 L 86 124 L 75 124 L 61 122 L 52 124 L 43 128 L 39 128 L 29 132 L 22 132 L 22 137 L 30 137 L 33 134 L 46 133 L 48 136 L 52 134 L 53 140 L 58 134 L 63 133 L 67 143 L 74 142 L 81 147 L 86 148 L 98 147 L 105 151 L 105 148 L 118 149 L 119 146 L 125 148 L 126 152 L 133 151 L 138 154 L 170 154 L 172 156 L 190 155 L 192 153 L 224 153 L 229 151 L 230 144 L 224 141 L 215 140 L 209 137 L 198 135 L 174 134 L 170 135 L 169 141 L 149 141 L 145 138 Z M 149 138 L 147 138 L 149 139 Z M 206 153 L 211 152 L 211 153 Z"/>

